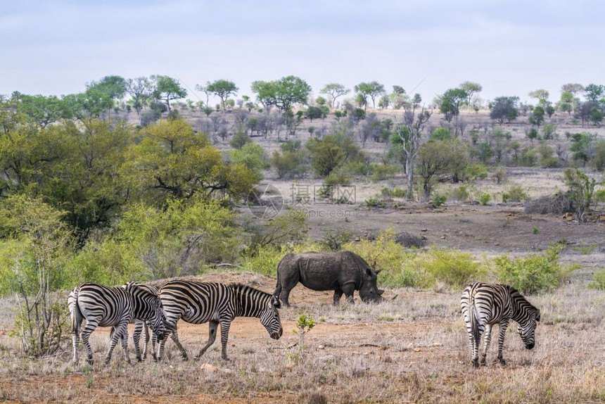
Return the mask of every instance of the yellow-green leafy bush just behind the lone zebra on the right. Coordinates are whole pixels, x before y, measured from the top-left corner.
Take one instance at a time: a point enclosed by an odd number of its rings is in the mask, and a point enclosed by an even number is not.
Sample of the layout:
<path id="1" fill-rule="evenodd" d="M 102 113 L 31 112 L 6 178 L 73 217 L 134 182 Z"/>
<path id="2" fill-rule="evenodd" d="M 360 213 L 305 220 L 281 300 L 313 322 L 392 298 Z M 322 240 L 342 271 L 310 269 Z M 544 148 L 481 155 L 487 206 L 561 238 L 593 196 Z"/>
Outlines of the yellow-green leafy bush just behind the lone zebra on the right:
<path id="1" fill-rule="evenodd" d="M 535 293 L 556 289 L 564 282 L 574 266 L 559 263 L 561 244 L 552 244 L 544 254 L 529 254 L 511 259 L 502 255 L 494 259 L 495 274 L 500 282 L 509 284 L 521 293 Z"/>

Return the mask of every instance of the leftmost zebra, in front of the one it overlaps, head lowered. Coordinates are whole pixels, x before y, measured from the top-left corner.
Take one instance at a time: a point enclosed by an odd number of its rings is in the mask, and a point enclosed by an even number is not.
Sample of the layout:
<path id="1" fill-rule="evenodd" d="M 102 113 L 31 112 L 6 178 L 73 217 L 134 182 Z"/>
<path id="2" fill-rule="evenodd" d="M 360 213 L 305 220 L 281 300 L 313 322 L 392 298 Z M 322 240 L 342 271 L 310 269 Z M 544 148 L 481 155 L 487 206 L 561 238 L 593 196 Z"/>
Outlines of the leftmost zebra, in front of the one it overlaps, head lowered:
<path id="1" fill-rule="evenodd" d="M 128 323 L 134 318 L 148 320 L 158 338 L 164 337 L 164 322 L 162 303 L 157 294 L 151 293 L 146 287 L 135 282 L 129 282 L 122 287 L 109 288 L 99 284 L 85 283 L 70 292 L 68 306 L 72 317 L 73 362 L 77 364 L 77 344 L 82 332 L 82 342 L 87 349 L 88 362 L 93 365 L 90 334 L 96 327 L 115 327 L 111 338 L 105 363 L 111 359 L 111 354 L 118 339 L 122 339 L 122 348 L 126 359 L 130 362 L 127 351 Z M 82 320 L 87 320 L 81 329 Z M 125 337 L 123 337 L 125 335 Z"/>

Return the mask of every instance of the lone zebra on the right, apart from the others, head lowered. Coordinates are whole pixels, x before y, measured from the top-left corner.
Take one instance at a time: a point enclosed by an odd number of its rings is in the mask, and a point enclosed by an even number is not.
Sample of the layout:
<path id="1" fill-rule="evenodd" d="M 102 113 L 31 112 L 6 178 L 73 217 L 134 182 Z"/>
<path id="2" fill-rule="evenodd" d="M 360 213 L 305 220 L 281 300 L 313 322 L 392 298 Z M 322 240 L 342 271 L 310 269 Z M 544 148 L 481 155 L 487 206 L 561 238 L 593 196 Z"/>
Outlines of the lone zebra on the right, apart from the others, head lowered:
<path id="1" fill-rule="evenodd" d="M 506 364 L 502 358 L 504 336 L 509 322 L 518 323 L 517 332 L 527 349 L 535 345 L 536 322 L 540 321 L 540 310 L 531 305 L 516 289 L 503 284 L 474 283 L 466 286 L 460 298 L 462 315 L 469 332 L 473 366 L 479 367 L 479 345 L 481 335 L 485 330 L 485 347 L 481 354 L 481 365 L 485 365 L 485 357 L 492 339 L 492 326 L 499 324 L 498 360 Z"/>

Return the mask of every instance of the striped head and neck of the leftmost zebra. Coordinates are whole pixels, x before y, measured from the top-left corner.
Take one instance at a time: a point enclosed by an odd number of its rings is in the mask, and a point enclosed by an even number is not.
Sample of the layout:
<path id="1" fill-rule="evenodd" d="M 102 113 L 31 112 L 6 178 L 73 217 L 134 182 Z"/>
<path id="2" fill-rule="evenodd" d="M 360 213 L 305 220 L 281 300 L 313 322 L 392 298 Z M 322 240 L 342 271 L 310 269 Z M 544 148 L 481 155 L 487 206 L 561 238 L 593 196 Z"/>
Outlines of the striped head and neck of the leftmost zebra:
<path id="1" fill-rule="evenodd" d="M 147 320 L 149 327 L 158 336 L 158 339 L 164 339 L 166 316 L 158 289 L 138 282 L 128 282 L 122 287 L 132 294 L 134 317 Z"/>

